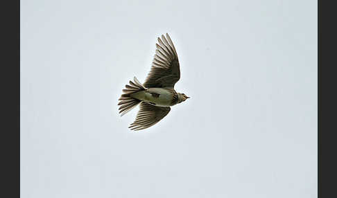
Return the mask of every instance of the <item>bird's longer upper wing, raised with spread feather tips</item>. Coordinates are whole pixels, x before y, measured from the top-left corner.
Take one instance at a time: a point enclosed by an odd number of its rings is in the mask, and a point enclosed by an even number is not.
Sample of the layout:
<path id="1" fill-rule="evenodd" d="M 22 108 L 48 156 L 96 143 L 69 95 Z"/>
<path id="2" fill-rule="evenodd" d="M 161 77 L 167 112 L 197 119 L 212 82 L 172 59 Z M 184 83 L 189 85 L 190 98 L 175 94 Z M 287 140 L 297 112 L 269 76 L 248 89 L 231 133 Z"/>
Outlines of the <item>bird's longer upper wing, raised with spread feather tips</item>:
<path id="1" fill-rule="evenodd" d="M 167 38 L 167 39 L 166 39 Z M 157 49 L 153 58 L 150 73 L 144 82 L 144 87 L 174 87 L 180 79 L 178 55 L 173 42 L 166 33 L 166 38 L 158 37 Z"/>

